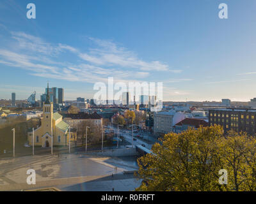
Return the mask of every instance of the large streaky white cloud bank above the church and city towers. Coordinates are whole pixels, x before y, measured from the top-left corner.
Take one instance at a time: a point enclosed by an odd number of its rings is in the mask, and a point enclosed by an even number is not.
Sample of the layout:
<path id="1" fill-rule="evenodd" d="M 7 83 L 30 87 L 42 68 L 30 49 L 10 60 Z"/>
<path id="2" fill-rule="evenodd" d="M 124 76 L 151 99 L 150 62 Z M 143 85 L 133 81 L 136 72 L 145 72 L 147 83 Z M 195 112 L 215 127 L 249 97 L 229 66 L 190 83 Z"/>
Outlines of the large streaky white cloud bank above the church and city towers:
<path id="1" fill-rule="evenodd" d="M 163 62 L 143 61 L 134 52 L 111 40 L 89 38 L 95 47 L 86 48 L 88 51 L 84 52 L 64 43 L 49 43 L 27 33 L 10 31 L 10 34 L 12 46 L 8 49 L 0 47 L 0 63 L 26 69 L 30 75 L 38 77 L 89 83 L 104 82 L 108 77 L 114 77 L 122 82 L 131 81 L 131 78 L 140 82 L 150 77 L 152 71 L 182 71 L 170 69 Z M 74 56 L 66 59 L 65 53 Z"/>

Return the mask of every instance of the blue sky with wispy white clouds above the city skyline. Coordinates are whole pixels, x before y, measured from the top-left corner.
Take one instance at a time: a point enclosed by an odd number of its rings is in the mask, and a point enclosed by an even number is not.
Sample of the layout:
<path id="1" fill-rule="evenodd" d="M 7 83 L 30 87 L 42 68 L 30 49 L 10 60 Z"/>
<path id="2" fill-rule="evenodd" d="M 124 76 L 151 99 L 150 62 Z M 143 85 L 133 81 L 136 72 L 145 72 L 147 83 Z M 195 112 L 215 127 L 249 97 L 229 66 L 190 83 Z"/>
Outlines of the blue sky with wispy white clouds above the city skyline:
<path id="1" fill-rule="evenodd" d="M 36 5 L 36 19 L 26 5 Z M 228 19 L 218 17 L 227 3 Z M 92 98 L 93 84 L 163 82 L 165 101 L 256 97 L 255 0 L 0 2 L 0 98 Z"/>

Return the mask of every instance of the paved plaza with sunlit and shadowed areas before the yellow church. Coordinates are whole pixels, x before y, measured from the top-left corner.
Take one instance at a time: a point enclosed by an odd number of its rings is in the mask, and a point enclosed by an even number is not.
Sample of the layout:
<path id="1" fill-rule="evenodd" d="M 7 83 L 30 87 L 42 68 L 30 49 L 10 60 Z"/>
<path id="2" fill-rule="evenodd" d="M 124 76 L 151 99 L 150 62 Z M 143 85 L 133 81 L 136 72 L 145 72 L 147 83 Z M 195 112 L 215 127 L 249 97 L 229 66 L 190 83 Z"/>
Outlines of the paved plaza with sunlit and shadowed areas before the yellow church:
<path id="1" fill-rule="evenodd" d="M 27 171 L 36 172 L 36 184 L 28 185 Z M 103 157 L 90 154 L 25 156 L 0 160 L 0 191 L 25 191 L 57 187 L 61 191 L 133 191 L 141 180 L 132 157 Z"/>

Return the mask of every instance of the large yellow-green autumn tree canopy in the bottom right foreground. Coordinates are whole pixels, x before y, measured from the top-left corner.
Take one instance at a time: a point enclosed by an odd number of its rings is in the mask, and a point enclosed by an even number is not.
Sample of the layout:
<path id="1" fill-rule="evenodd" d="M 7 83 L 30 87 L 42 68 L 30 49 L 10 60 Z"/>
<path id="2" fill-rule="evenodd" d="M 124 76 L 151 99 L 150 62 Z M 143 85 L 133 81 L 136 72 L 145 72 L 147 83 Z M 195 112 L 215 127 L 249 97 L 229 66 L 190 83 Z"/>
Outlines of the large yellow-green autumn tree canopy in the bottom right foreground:
<path id="1" fill-rule="evenodd" d="M 137 191 L 255 191 L 256 139 L 221 126 L 169 133 L 138 159 Z M 219 184 L 220 170 L 228 182 Z"/>

